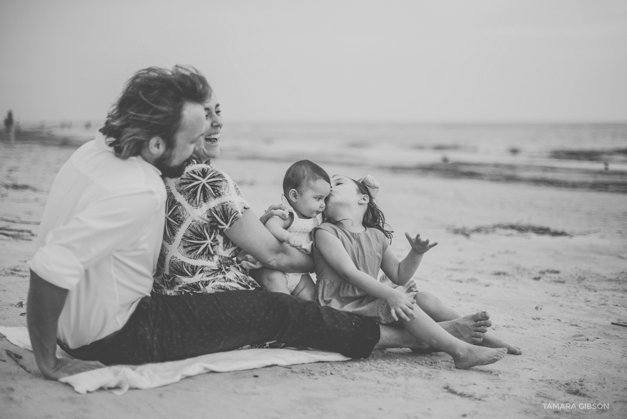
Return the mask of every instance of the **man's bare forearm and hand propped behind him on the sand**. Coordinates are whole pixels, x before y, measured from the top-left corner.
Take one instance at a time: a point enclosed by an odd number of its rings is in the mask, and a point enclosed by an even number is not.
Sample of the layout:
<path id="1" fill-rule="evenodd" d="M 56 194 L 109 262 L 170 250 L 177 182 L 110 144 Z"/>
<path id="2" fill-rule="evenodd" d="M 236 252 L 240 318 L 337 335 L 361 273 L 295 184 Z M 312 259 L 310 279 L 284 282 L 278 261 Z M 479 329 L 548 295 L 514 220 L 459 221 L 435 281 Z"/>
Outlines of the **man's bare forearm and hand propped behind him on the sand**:
<path id="1" fill-rule="evenodd" d="M 31 270 L 26 321 L 37 366 L 47 379 L 58 380 L 104 367 L 97 361 L 56 357 L 56 325 L 67 296 L 67 289 L 47 282 Z"/>

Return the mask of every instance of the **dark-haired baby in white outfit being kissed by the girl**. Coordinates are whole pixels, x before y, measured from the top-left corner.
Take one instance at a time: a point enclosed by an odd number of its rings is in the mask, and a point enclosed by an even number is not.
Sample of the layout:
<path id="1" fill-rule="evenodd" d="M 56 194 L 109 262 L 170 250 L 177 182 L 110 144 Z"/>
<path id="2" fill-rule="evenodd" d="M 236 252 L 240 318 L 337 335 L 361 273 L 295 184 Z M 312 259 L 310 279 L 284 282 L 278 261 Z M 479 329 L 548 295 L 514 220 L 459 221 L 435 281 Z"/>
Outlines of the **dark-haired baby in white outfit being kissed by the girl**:
<path id="1" fill-rule="evenodd" d="M 322 167 L 309 160 L 295 162 L 283 179 L 281 201 L 287 218 L 270 218 L 265 227 L 279 241 L 311 254 L 311 231 L 323 222 L 325 198 L 330 192 L 331 179 Z M 250 275 L 269 291 L 316 299 L 316 286 L 309 273 L 284 273 L 262 267 L 251 269 Z"/>

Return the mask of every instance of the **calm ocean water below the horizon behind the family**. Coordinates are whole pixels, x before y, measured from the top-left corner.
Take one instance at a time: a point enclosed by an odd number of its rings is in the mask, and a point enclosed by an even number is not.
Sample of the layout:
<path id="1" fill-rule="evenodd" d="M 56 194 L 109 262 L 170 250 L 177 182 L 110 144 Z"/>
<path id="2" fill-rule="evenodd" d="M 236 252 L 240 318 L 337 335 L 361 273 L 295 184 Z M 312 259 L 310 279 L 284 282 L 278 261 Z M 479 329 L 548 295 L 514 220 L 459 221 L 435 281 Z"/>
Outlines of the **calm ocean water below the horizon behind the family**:
<path id="1" fill-rule="evenodd" d="M 23 123 L 85 142 L 103 121 Z M 227 123 L 223 153 L 380 167 L 440 162 L 627 171 L 627 123 Z M 605 165 L 607 163 L 607 165 Z"/>

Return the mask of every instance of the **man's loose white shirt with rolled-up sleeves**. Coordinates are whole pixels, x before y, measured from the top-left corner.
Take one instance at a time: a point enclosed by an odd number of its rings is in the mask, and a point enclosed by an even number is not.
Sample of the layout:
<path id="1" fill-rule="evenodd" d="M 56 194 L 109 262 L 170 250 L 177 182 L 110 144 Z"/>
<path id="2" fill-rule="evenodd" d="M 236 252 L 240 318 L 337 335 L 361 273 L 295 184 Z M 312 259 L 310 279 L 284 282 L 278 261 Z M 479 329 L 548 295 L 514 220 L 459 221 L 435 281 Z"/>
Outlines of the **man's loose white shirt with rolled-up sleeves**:
<path id="1" fill-rule="evenodd" d="M 116 157 L 100 133 L 57 174 L 29 266 L 69 290 L 57 334 L 68 347 L 119 330 L 150 294 L 165 200 L 160 171 Z"/>

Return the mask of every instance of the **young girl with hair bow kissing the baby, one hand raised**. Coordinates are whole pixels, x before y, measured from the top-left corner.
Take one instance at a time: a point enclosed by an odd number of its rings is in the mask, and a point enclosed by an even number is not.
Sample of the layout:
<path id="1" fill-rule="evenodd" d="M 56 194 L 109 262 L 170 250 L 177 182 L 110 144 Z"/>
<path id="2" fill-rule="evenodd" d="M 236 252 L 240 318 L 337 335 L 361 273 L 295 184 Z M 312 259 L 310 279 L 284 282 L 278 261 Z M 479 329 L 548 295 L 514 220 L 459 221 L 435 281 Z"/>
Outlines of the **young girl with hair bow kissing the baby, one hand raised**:
<path id="1" fill-rule="evenodd" d="M 373 202 L 378 185 L 371 176 L 364 181 L 333 176 L 331 185 L 325 208 L 329 222 L 314 229 L 318 304 L 362 314 L 380 323 L 400 320 L 412 336 L 449 353 L 458 368 L 495 363 L 505 356 L 507 345 L 474 346 L 449 334 L 432 319 L 460 317 L 437 298 L 429 295 L 423 301 L 419 296 L 426 293 L 412 292 L 415 284 L 410 280 L 423 254 L 438 243 L 422 241 L 419 234 L 415 238 L 405 234 L 412 249 L 399 261 L 389 248 L 392 231 L 385 229 L 385 218 Z M 376 280 L 379 269 L 399 287 Z M 500 343 L 488 340 L 486 346 Z"/>

